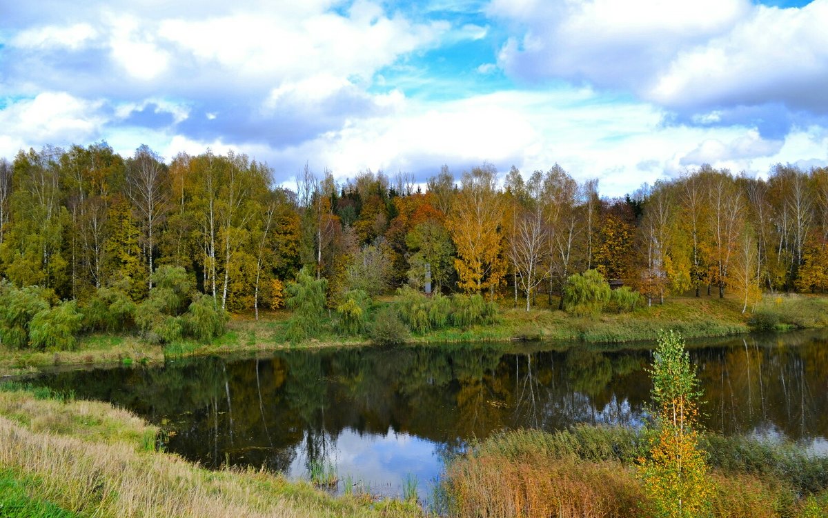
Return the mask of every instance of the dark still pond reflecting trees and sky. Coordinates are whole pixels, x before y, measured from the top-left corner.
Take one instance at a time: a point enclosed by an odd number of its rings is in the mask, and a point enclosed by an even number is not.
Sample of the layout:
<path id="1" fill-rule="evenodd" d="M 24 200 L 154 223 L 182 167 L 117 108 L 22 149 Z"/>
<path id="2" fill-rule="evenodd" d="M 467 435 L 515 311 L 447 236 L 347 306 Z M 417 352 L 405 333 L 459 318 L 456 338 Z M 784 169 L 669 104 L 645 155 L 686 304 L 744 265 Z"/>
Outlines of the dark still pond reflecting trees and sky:
<path id="1" fill-rule="evenodd" d="M 828 454 L 828 335 L 689 343 L 703 422 L 724 434 L 792 439 Z M 39 383 L 107 400 L 168 430 L 166 448 L 208 467 L 307 477 L 335 467 L 339 491 L 427 499 L 445 455 L 499 429 L 640 426 L 647 345 L 445 345 L 284 350 L 183 358 L 164 367 L 55 372 Z"/>

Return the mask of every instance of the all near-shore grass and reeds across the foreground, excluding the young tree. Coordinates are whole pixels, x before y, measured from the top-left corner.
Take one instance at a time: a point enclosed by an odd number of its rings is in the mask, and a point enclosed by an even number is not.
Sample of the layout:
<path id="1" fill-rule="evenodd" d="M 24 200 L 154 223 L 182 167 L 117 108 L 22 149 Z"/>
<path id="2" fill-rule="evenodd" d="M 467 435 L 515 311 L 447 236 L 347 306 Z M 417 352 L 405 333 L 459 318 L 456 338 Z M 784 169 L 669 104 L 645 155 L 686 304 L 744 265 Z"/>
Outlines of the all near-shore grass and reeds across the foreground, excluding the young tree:
<path id="1" fill-rule="evenodd" d="M 127 410 L 7 381 L 0 383 L 0 515 L 648 518 L 662 516 L 660 498 L 672 498 L 653 496 L 640 473 L 655 458 L 658 422 L 502 430 L 472 441 L 448 460 L 435 501 L 423 509 L 410 495 L 331 496 L 324 483 L 278 473 L 201 468 L 166 453 L 160 430 Z M 710 516 L 826 516 L 828 457 L 703 431 L 691 442 L 709 467 Z"/>

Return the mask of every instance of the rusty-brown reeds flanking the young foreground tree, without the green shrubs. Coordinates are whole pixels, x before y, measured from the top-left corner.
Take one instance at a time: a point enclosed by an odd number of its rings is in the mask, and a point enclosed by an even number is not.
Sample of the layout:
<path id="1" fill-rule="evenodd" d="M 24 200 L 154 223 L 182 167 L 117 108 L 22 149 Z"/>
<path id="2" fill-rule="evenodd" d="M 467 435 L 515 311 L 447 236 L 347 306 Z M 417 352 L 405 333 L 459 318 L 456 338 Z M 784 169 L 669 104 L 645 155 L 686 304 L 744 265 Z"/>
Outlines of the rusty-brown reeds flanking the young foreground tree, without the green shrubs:
<path id="1" fill-rule="evenodd" d="M 599 431 L 590 434 L 589 427 L 581 427 L 571 433 L 495 434 L 449 464 L 443 482 L 447 506 L 460 518 L 654 516 L 629 460 L 633 449 L 585 448 L 605 445 L 598 440 Z M 612 429 L 603 434 L 610 442 L 623 439 Z M 710 477 L 715 486 L 710 516 L 828 516 L 828 489 L 800 498 L 789 483 L 773 476 L 714 471 Z"/>

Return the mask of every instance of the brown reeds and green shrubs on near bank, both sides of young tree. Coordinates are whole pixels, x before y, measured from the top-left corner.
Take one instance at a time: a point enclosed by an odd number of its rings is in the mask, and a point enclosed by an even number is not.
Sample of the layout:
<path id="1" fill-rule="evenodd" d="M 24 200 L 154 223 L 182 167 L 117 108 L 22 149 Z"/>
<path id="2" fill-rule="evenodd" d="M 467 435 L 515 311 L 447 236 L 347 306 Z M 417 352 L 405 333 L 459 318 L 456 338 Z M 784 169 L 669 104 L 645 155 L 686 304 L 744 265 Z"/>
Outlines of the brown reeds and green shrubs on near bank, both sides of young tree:
<path id="1" fill-rule="evenodd" d="M 828 516 L 828 458 L 793 445 L 710 437 L 715 492 L 711 516 Z M 447 468 L 444 492 L 453 516 L 654 516 L 635 463 L 646 455 L 630 429 L 590 426 L 547 434 L 495 434 Z"/>

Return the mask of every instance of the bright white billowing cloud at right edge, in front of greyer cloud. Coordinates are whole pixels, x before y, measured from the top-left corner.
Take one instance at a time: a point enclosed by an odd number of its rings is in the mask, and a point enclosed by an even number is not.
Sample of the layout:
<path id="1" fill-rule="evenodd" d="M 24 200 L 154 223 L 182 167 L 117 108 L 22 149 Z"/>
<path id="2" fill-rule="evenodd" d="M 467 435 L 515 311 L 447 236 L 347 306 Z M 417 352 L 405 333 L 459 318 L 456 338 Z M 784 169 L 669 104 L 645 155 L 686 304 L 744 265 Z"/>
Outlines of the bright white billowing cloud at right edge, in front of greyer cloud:
<path id="1" fill-rule="evenodd" d="M 828 112 L 828 1 L 758 6 L 704 45 L 679 52 L 647 92 L 671 106 L 784 102 Z"/>

